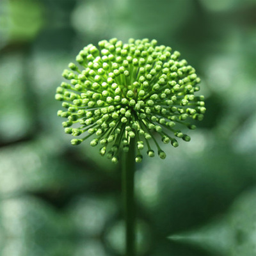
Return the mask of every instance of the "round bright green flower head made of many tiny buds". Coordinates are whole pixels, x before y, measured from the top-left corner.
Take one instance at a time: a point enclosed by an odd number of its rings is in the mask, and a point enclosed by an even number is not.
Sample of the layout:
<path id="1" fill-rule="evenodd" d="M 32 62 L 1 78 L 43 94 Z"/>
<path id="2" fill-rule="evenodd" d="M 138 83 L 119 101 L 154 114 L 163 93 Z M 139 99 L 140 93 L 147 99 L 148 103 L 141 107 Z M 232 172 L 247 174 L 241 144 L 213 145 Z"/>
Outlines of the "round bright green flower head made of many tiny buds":
<path id="1" fill-rule="evenodd" d="M 179 145 L 174 137 L 189 141 L 181 130 L 195 129 L 189 120 L 202 120 L 205 113 L 204 96 L 194 95 L 200 90 L 195 68 L 156 40 L 123 44 L 113 38 L 100 41 L 99 47 L 84 47 L 76 57 L 82 68 L 70 63 L 63 72 L 70 83 L 56 90 L 56 99 L 67 109 L 58 111 L 67 118 L 65 132 L 79 136 L 72 145 L 90 138 L 92 147 L 100 145 L 99 153 L 116 163 L 131 140 L 136 162 L 142 160 L 143 148 L 154 157 L 152 144 L 161 159 L 166 157 L 157 136 L 173 147 Z"/>

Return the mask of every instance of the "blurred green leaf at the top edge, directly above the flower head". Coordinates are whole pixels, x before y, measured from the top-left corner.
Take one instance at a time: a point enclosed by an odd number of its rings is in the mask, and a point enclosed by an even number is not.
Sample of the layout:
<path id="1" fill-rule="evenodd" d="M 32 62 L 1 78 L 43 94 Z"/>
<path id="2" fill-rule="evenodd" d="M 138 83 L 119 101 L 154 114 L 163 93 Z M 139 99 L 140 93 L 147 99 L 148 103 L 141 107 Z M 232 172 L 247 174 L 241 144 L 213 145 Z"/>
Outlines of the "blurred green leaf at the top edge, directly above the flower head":
<path id="1" fill-rule="evenodd" d="M 78 33 L 93 37 L 134 38 L 166 37 L 179 28 L 190 15 L 193 3 L 180 1 L 79 1 L 72 13 Z M 156 22 L 157 20 L 157 22 Z M 120 29 L 121 28 L 121 29 Z"/>

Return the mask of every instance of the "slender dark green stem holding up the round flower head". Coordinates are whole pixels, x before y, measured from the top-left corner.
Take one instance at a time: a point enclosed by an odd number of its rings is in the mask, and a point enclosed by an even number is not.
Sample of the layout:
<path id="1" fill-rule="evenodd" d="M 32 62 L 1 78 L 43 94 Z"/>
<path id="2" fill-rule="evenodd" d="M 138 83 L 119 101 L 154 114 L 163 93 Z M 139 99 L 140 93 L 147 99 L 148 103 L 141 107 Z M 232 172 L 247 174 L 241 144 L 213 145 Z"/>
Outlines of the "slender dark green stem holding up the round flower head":
<path id="1" fill-rule="evenodd" d="M 135 140 L 131 139 L 129 152 L 122 159 L 122 193 L 125 217 L 125 256 L 135 256 L 134 204 Z"/>

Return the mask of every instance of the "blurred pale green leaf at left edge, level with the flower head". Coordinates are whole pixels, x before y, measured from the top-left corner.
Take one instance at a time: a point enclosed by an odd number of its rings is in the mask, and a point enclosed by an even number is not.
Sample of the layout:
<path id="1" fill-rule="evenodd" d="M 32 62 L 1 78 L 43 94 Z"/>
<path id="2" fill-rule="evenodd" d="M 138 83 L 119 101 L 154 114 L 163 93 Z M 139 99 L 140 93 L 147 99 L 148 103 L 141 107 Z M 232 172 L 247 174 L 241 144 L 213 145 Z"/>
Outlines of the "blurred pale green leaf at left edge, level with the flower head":
<path id="1" fill-rule="evenodd" d="M 26 81 L 23 72 L 24 54 L 12 52 L 0 59 L 0 140 L 21 138 L 33 124 L 27 108 Z"/>

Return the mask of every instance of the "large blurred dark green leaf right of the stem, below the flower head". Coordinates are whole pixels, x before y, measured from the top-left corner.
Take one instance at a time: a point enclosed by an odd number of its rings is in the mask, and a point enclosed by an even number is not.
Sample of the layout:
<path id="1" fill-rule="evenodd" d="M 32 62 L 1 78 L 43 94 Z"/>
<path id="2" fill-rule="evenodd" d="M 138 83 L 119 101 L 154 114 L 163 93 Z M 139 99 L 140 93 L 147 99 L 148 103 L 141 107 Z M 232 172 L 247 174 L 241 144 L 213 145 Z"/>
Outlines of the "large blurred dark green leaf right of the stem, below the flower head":
<path id="1" fill-rule="evenodd" d="M 238 193 L 255 184 L 255 161 L 250 156 L 234 154 L 224 145 L 209 147 L 206 142 L 202 152 L 189 152 L 182 145 L 168 146 L 164 150 L 170 157 L 164 162 L 150 159 L 137 173 L 140 203 L 147 207 L 159 236 L 200 225 L 226 211 Z"/>

